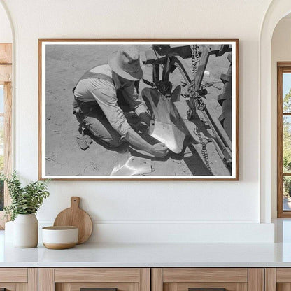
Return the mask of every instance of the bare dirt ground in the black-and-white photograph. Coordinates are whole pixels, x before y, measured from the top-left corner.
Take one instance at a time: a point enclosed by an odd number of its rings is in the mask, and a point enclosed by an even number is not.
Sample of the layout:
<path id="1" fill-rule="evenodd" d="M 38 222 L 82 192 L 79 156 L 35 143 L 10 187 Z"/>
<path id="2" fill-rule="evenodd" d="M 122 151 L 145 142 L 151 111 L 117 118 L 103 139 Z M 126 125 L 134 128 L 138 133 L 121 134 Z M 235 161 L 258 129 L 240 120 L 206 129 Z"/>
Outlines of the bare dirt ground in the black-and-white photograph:
<path id="1" fill-rule="evenodd" d="M 141 51 L 148 45 L 139 45 Z M 90 148 L 81 150 L 78 146 L 78 122 L 72 114 L 72 89 L 85 71 L 94 66 L 106 64 L 107 57 L 117 50 L 116 45 L 47 45 L 45 56 L 45 118 L 46 148 L 45 169 L 47 176 L 109 176 L 120 155 L 127 146 L 111 150 L 97 141 Z M 227 54 L 211 56 L 204 81 L 215 82 L 215 87 L 207 87 L 209 100 L 215 115 L 221 114 L 217 96 L 223 84 L 220 74 L 226 73 L 229 62 Z M 190 60 L 187 62 L 190 66 Z M 144 78 L 152 80 L 151 66 L 146 66 Z M 176 70 L 171 76 L 173 87 L 180 85 L 182 76 Z M 139 92 L 148 87 L 141 82 Z M 183 97 L 182 97 L 183 98 Z M 201 155 L 201 144 L 192 144 L 181 154 L 169 153 L 165 159 L 152 157 L 146 152 L 129 147 L 131 154 L 146 158 L 152 164 L 152 172 L 147 176 L 229 176 L 212 143 L 207 144 L 210 173 Z"/>

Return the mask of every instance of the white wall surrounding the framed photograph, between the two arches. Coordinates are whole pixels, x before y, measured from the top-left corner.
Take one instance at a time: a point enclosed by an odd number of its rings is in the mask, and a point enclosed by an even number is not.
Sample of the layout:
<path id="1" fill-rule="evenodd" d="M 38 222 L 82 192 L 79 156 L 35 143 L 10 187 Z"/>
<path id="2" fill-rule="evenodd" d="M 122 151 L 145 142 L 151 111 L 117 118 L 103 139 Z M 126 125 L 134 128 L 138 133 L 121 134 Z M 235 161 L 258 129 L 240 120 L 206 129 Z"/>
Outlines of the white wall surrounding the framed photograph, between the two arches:
<path id="1" fill-rule="evenodd" d="M 271 0 L 3 2 L 15 27 L 15 169 L 27 180 L 38 168 L 38 38 L 240 41 L 238 182 L 55 181 L 41 222 L 78 195 L 97 223 L 92 241 L 272 241 L 272 225 L 259 224 L 258 90 L 260 27 Z"/>

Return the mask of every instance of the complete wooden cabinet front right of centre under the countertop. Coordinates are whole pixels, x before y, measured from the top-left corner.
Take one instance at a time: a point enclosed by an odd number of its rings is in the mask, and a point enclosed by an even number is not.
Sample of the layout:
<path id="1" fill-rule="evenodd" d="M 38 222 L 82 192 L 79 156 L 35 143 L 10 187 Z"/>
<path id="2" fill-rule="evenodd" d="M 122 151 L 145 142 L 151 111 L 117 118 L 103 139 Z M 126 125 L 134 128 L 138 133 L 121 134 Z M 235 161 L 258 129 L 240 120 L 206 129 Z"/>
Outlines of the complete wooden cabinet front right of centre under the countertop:
<path id="1" fill-rule="evenodd" d="M 264 269 L 155 268 L 152 291 L 264 291 Z"/>

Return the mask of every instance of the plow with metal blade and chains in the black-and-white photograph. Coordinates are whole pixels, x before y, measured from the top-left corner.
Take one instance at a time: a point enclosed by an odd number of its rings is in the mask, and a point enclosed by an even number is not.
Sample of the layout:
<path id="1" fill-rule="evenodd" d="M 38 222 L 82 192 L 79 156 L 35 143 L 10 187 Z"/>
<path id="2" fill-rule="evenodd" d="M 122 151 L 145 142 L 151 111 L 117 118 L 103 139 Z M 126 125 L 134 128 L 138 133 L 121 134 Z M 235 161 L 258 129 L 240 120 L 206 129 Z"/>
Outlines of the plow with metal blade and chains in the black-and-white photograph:
<path id="1" fill-rule="evenodd" d="M 215 86 L 215 83 L 205 80 L 211 55 L 225 56 L 229 62 L 228 69 L 220 74 L 223 87 L 218 96 L 208 94 L 208 87 Z M 211 145 L 231 175 L 231 45 L 152 45 L 152 49 L 145 52 L 143 64 L 152 68 L 152 80 L 143 79 L 148 87 L 141 91 L 152 117 L 148 134 L 176 154 L 183 153 L 185 147 L 191 144 L 201 145 L 201 157 L 210 173 L 212 169 L 207 146 Z M 171 77 L 177 71 L 181 81 L 174 85 Z M 213 98 L 221 107 L 219 116 L 213 110 Z"/>

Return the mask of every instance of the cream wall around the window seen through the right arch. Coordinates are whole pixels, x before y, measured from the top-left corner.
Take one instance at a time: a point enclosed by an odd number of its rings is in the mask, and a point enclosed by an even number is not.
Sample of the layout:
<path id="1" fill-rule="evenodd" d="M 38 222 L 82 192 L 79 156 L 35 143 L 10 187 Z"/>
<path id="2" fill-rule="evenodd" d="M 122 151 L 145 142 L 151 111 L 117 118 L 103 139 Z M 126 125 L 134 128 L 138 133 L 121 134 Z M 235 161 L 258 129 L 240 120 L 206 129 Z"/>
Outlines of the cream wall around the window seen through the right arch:
<path id="1" fill-rule="evenodd" d="M 283 18 L 274 30 L 271 43 L 271 213 L 277 217 L 277 62 L 291 62 L 291 17 Z"/>

